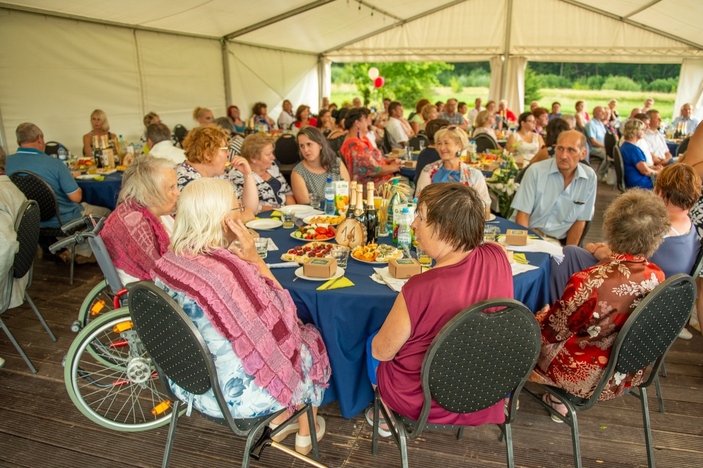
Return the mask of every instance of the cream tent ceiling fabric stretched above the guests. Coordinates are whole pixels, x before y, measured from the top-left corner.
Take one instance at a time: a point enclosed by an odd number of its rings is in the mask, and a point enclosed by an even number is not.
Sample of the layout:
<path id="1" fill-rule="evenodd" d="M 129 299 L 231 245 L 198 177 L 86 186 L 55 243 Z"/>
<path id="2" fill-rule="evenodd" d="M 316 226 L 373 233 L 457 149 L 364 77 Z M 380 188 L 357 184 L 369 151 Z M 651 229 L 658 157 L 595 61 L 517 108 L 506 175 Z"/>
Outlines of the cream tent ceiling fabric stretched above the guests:
<path id="1" fill-rule="evenodd" d="M 270 18 L 284 18 L 240 34 L 236 40 L 270 48 L 325 53 L 335 61 L 458 61 L 487 60 L 503 53 L 507 0 L 151 0 L 146 3 L 19 0 L 11 3 L 127 26 L 209 37 L 226 37 Z M 452 6 L 441 8 L 446 5 Z M 528 60 L 681 63 L 684 58 L 703 57 L 703 46 L 697 46 L 703 37 L 703 1 L 518 0 L 513 5 L 510 53 Z M 299 13 L 291 13 L 296 11 Z M 434 13 L 423 15 L 430 11 Z M 285 18 L 286 13 L 292 15 Z M 540 33 L 534 34 L 535 31 Z"/>

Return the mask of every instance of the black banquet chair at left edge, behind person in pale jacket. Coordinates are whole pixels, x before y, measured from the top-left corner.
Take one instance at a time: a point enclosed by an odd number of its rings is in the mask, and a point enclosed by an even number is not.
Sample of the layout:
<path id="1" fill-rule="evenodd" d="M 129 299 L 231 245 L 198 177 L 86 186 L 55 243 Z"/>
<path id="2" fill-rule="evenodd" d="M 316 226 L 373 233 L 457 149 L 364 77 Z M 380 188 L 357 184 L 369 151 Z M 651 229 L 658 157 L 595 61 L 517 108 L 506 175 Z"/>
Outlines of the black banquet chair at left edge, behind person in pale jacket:
<path id="1" fill-rule="evenodd" d="M 37 241 L 39 240 L 39 206 L 34 200 L 28 200 L 22 203 L 20 207 L 20 213 L 18 214 L 17 221 L 15 221 L 15 233 L 17 233 L 17 240 L 20 242 L 20 249 L 15 254 L 15 260 L 13 261 L 13 266 L 8 274 L 8 282 L 6 285 L 2 285 L 5 288 L 5 298 L 6 304 L 1 304 L 0 316 L 4 313 L 10 306 L 10 297 L 12 295 L 13 280 L 15 278 L 23 278 L 27 273 L 29 273 L 30 278 L 27 282 L 27 289 L 32 285 L 32 266 L 34 266 L 34 254 L 37 252 Z M 49 337 L 56 342 L 56 337 L 51 332 L 51 328 L 46 324 L 46 320 L 41 316 L 41 313 L 37 310 L 37 306 L 34 306 L 34 302 L 30 299 L 30 295 L 25 291 L 25 300 L 30 303 L 32 310 L 37 314 L 41 325 L 44 325 L 46 332 L 49 333 Z M 22 351 L 22 347 L 17 342 L 15 337 L 13 337 L 10 330 L 8 330 L 7 325 L 0 318 L 0 327 L 7 334 L 15 348 L 25 360 L 25 363 L 29 366 L 30 370 L 36 374 L 37 369 L 32 365 L 30 358 L 27 358 L 25 351 Z"/>

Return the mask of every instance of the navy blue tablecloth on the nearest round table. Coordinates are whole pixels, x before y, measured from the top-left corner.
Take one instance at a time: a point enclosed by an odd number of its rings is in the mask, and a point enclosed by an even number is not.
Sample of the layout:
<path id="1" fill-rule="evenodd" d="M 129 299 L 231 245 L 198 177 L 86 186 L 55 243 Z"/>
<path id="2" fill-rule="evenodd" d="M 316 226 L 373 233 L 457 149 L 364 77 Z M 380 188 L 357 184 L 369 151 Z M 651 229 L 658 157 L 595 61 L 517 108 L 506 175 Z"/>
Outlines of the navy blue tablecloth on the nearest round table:
<path id="1" fill-rule="evenodd" d="M 259 216 L 268 217 L 269 213 Z M 517 226 L 505 219 L 496 221 L 499 221 L 497 226 L 501 232 Z M 293 240 L 290 233 L 292 230 L 283 228 L 259 233 L 262 237 L 272 238 L 280 249 L 269 252 L 267 263 L 277 263 L 280 254 L 288 252 L 295 245 L 302 245 L 303 242 Z M 513 277 L 514 296 L 531 311 L 538 311 L 549 301 L 550 260 L 548 254 L 525 255 L 530 264 L 539 266 L 539 269 Z M 273 275 L 290 292 L 299 318 L 306 323 L 314 323 L 327 346 L 332 379 L 323 403 L 339 400 L 342 416 L 354 417 L 373 399 L 371 384 L 366 375 L 366 339 L 383 325 L 397 293 L 369 278 L 373 274 L 373 265 L 351 257 L 344 275 L 354 282 L 354 287 L 318 291 L 316 288 L 322 282 L 293 282 L 294 271 L 295 268 L 278 268 L 273 269 Z"/>

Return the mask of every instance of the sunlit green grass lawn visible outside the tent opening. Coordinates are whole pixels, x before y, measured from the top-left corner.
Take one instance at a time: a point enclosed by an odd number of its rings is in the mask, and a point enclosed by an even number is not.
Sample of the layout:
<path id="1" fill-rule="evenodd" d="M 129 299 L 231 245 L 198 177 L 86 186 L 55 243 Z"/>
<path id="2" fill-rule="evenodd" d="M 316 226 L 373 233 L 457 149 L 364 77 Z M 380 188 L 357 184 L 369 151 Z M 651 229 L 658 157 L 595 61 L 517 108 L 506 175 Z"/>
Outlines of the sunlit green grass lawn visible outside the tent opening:
<path id="1" fill-rule="evenodd" d="M 650 93 L 650 92 L 633 92 L 633 91 L 584 91 L 579 89 L 543 89 L 541 90 L 542 98 L 539 103 L 544 108 L 551 108 L 554 101 L 559 101 L 562 105 L 562 112 L 574 113 L 574 105 L 577 100 L 586 102 L 586 110 L 588 114 L 593 113 L 593 108 L 597 105 L 607 105 L 611 99 L 618 100 L 617 109 L 621 117 L 627 117 L 633 108 L 640 108 L 646 98 L 654 99 L 654 108 L 662 113 L 662 118 L 671 117 L 673 114 L 673 102 L 676 98 L 676 93 Z M 333 84 L 332 96 L 330 102 L 342 105 L 345 100 L 349 103 L 356 96 L 361 96 L 356 92 L 356 87 L 349 84 Z M 488 100 L 488 88 L 464 88 L 459 93 L 455 93 L 451 88 L 435 88 L 433 102 L 437 100 L 446 101 L 449 98 L 456 98 L 458 101 L 464 101 L 473 107 L 476 98 L 483 98 L 484 104 Z M 406 109 L 408 115 L 414 109 Z"/>

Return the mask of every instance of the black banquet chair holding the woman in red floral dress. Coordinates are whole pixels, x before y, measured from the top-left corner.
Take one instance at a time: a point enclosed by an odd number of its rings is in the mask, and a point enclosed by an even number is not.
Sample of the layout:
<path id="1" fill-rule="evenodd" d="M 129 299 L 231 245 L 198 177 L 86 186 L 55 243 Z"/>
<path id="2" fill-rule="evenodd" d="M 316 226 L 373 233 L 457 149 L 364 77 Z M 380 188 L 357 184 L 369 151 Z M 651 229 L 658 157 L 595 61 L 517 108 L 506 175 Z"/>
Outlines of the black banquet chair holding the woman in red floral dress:
<path id="1" fill-rule="evenodd" d="M 539 384 L 541 389 L 551 396 L 558 398 L 566 405 L 567 416 L 560 415 L 550 405 L 542 401 L 540 396 L 525 389 L 525 392 L 543 405 L 551 414 L 569 424 L 572 431 L 572 446 L 574 450 L 574 467 L 581 468 L 581 446 L 579 443 L 579 425 L 576 411 L 593 408 L 598 401 L 610 377 L 615 372 L 629 374 L 652 366 L 649 377 L 638 386 L 630 387 L 626 394 L 635 396 L 642 407 L 642 419 L 645 429 L 645 444 L 647 446 L 647 466 L 654 468 L 654 449 L 652 448 L 652 429 L 650 428 L 650 412 L 647 406 L 647 387 L 658 382 L 659 368 L 664 363 L 666 352 L 669 351 L 673 340 L 686 325 L 695 304 L 696 284 L 689 275 L 673 275 L 662 282 L 640 301 L 640 304 L 630 314 L 617 334 L 610 353 L 608 366 L 603 377 L 595 387 L 590 398 L 580 398 L 574 394 L 554 386 Z M 653 363 L 653 364 L 652 364 Z M 639 391 L 636 389 L 639 388 Z"/>

